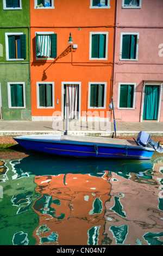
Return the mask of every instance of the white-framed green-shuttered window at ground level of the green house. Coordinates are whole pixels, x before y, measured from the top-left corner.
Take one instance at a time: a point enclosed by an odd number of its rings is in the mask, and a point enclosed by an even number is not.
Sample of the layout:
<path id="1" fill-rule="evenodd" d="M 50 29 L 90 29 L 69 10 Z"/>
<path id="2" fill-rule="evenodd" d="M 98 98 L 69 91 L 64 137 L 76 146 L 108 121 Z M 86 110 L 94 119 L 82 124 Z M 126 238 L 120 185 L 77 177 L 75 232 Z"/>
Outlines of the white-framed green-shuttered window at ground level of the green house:
<path id="1" fill-rule="evenodd" d="M 9 108 L 26 108 L 25 83 L 8 83 Z"/>

